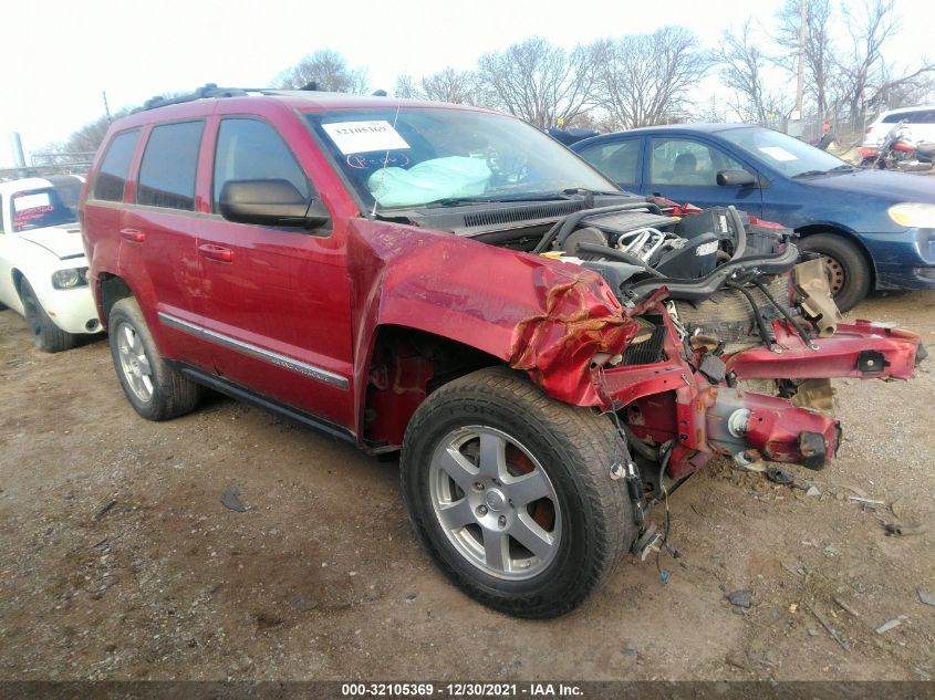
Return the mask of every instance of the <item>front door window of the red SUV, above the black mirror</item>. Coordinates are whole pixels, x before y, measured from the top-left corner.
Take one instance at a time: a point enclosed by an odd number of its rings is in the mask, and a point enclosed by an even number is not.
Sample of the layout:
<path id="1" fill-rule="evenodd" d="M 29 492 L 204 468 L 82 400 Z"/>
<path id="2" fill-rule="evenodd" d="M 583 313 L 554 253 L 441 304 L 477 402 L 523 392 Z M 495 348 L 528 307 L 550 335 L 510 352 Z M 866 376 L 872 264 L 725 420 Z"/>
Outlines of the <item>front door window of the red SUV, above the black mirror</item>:
<path id="1" fill-rule="evenodd" d="M 214 210 L 228 180 L 287 180 L 304 198 L 309 180 L 277 130 L 258 119 L 221 121 L 215 152 Z"/>

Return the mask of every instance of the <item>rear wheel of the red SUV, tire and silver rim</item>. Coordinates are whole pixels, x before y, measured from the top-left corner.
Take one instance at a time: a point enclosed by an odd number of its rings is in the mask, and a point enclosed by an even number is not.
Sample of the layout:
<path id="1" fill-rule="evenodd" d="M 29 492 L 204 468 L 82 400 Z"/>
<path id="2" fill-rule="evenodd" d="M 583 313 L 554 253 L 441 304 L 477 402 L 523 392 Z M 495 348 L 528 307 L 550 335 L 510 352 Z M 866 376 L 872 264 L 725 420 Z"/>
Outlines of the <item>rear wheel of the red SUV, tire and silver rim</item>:
<path id="1" fill-rule="evenodd" d="M 137 414 L 167 420 L 195 409 L 201 388 L 163 359 L 135 299 L 115 303 L 107 325 L 114 369 Z"/>

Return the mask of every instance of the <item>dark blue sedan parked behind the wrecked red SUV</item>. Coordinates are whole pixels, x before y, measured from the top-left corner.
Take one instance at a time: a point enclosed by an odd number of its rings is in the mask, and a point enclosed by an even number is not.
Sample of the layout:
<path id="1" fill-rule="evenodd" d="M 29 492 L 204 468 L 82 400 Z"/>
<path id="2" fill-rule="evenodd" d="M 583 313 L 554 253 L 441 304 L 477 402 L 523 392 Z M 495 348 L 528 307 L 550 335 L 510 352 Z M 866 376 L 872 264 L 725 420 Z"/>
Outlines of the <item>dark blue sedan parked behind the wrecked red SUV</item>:
<path id="1" fill-rule="evenodd" d="M 759 126 L 637 128 L 570 148 L 623 189 L 734 205 L 798 231 L 846 311 L 870 290 L 935 289 L 935 177 L 855 167 Z"/>

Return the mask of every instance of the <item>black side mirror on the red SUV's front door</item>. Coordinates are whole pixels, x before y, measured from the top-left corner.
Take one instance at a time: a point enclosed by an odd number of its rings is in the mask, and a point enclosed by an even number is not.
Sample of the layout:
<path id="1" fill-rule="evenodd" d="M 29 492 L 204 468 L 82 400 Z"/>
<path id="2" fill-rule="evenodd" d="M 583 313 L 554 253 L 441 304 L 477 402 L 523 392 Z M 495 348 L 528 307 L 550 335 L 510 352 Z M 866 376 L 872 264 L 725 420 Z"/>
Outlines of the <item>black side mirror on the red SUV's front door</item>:
<path id="1" fill-rule="evenodd" d="M 308 198 L 289 180 L 228 180 L 218 199 L 221 216 L 238 223 L 323 227 L 331 213 L 320 199 Z"/>

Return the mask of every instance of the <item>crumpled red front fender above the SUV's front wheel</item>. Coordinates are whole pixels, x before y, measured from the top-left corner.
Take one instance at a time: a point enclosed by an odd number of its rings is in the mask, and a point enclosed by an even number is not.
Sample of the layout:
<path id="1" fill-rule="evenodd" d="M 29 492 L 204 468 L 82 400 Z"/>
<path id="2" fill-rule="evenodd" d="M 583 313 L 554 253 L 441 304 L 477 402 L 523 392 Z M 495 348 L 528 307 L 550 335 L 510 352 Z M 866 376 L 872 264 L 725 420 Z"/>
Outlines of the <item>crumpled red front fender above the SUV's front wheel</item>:
<path id="1" fill-rule="evenodd" d="M 498 357 L 560 401 L 601 403 L 594 355 L 623 352 L 637 325 L 596 272 L 413 226 L 352 229 L 359 357 L 376 327 L 409 327 Z"/>

